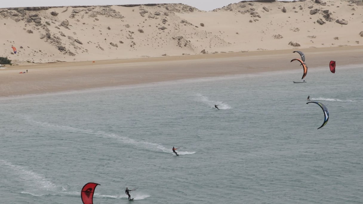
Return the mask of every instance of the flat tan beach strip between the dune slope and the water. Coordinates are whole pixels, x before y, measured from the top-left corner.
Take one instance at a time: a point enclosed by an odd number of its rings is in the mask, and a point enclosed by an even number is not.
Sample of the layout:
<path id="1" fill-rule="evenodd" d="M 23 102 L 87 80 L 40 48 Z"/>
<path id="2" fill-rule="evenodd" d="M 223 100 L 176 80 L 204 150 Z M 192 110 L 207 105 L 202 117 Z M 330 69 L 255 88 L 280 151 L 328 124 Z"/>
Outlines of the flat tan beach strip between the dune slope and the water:
<path id="1" fill-rule="evenodd" d="M 337 61 L 337 69 L 363 64 L 363 46 L 342 46 L 17 65 L 0 70 L 0 97 L 302 69 L 290 63 L 300 58 L 295 50 L 305 53 L 308 70 L 329 68 L 330 60 Z"/>

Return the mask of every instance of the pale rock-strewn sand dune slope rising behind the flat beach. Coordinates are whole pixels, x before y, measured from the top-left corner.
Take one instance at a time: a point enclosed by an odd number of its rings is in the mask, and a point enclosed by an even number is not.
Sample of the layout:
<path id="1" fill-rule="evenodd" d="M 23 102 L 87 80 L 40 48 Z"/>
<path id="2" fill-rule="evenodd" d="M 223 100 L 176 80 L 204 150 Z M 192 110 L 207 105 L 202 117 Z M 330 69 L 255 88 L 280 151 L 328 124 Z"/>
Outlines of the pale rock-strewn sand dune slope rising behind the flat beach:
<path id="1" fill-rule="evenodd" d="M 355 46 L 362 13 L 358 0 L 7 8 L 0 51 L 26 64 Z"/>

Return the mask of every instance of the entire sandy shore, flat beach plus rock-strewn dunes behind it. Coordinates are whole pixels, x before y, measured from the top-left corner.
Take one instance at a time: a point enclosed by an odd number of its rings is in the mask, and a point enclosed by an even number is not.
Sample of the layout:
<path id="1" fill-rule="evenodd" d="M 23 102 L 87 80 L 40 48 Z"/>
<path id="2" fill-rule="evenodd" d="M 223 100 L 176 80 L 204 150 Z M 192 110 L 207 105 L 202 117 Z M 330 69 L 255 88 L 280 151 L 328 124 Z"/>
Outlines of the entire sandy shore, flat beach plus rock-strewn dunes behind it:
<path id="1" fill-rule="evenodd" d="M 330 60 L 339 70 L 363 64 L 362 13 L 362 1 L 321 0 L 208 12 L 184 4 L 0 8 L 0 52 L 13 63 L 0 69 L 0 95 L 299 70 L 294 50 L 310 70 Z"/>

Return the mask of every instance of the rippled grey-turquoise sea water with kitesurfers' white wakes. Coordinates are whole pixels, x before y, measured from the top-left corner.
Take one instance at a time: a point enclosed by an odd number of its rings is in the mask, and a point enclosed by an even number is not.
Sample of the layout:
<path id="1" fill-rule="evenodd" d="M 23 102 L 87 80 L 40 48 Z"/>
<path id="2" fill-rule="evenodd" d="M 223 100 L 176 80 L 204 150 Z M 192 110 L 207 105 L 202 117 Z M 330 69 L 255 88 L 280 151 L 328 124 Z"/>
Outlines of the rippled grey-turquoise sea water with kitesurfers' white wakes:
<path id="1" fill-rule="evenodd" d="M 362 65 L 301 76 L 0 98 L 0 203 L 363 203 Z"/>

